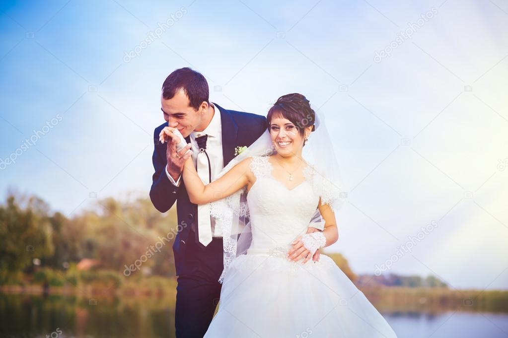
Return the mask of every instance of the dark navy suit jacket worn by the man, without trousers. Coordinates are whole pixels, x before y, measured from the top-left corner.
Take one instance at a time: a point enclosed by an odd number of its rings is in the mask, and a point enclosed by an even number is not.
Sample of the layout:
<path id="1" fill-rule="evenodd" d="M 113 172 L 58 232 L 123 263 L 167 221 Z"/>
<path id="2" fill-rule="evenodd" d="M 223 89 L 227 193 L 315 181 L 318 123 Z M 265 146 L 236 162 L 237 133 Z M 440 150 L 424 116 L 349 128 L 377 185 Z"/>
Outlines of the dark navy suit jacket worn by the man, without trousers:
<path id="1" fill-rule="evenodd" d="M 238 146 L 250 146 L 256 141 L 268 127 L 266 117 L 251 113 L 237 112 L 224 109 L 214 103 L 219 108 L 224 166 L 226 166 L 235 157 L 235 148 Z M 165 167 L 168 164 L 166 158 L 166 143 L 162 144 L 158 140 L 159 133 L 168 124 L 163 123 L 156 127 L 153 132 L 153 168 L 155 170 L 152 176 L 152 186 L 150 188 L 150 199 L 153 206 L 160 212 L 167 212 L 175 203 L 178 215 L 179 231 L 177 232 L 175 242 L 173 243 L 173 252 L 175 254 L 176 274 L 183 269 L 183 257 L 185 244 L 188 241 L 197 241 L 197 235 L 189 238 L 191 228 L 197 228 L 198 206 L 189 201 L 183 179 L 180 180 L 180 186 L 174 186 L 166 176 Z M 189 137 L 186 137 L 187 143 L 190 143 Z M 196 231 L 197 232 L 197 231 Z M 198 242 L 201 246 L 201 243 Z M 222 259 L 222 255 L 217 255 Z"/>

